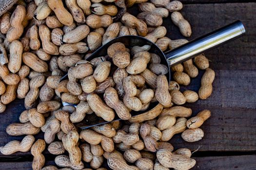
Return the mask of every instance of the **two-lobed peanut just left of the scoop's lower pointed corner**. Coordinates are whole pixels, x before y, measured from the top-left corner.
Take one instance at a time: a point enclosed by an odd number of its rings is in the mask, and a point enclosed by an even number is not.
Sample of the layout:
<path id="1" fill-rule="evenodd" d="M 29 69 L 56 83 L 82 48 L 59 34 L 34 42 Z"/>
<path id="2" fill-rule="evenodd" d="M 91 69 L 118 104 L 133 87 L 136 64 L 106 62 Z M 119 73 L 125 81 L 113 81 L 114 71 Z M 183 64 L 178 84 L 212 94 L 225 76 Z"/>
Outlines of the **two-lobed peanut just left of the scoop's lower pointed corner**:
<path id="1" fill-rule="evenodd" d="M 68 112 L 58 110 L 54 115 L 56 119 L 61 121 L 60 128 L 65 134 L 68 134 L 70 131 L 76 129 L 75 125 L 70 122 Z"/>

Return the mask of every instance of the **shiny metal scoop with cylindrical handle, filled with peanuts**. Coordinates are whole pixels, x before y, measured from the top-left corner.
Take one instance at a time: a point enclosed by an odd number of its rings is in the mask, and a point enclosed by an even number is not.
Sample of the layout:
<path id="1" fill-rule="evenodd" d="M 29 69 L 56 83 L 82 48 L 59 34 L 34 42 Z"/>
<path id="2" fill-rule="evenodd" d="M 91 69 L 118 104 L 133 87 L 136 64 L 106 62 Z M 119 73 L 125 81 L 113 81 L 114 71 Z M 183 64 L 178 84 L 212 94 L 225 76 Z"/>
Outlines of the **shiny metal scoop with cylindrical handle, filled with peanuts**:
<path id="1" fill-rule="evenodd" d="M 126 47 L 134 47 L 134 46 L 143 46 L 143 45 L 150 45 L 151 48 L 149 52 L 156 53 L 161 58 L 161 64 L 164 64 L 168 67 L 169 71 L 166 74 L 166 77 L 168 79 L 168 82 L 170 82 L 171 79 L 171 71 L 170 66 L 177 65 L 179 63 L 182 63 L 186 60 L 189 60 L 201 53 L 204 53 L 206 51 L 210 51 L 213 48 L 216 48 L 224 43 L 227 43 L 233 39 L 238 38 L 242 34 L 245 33 L 245 29 L 243 24 L 240 21 L 236 21 L 232 24 L 229 24 L 225 27 L 222 27 L 214 32 L 211 32 L 209 34 L 203 35 L 193 41 L 190 41 L 174 50 L 167 51 L 163 53 L 156 44 L 149 41 L 146 38 L 135 36 L 135 35 L 126 35 L 126 36 L 120 36 L 117 37 L 107 44 L 100 47 L 97 51 L 95 51 L 93 54 L 90 55 L 88 58 L 88 61 L 91 61 L 93 58 L 99 57 L 99 56 L 105 56 L 107 54 L 107 49 L 110 45 L 116 42 L 123 43 Z M 63 79 L 65 79 L 67 75 L 65 75 Z M 74 105 L 69 104 L 66 102 L 62 102 L 63 106 L 65 105 Z M 151 103 L 149 108 L 146 111 L 143 112 L 136 112 L 132 111 L 131 115 L 136 116 L 141 113 L 145 113 L 152 108 L 154 108 L 158 102 Z M 76 106 L 76 105 L 75 105 Z M 120 120 L 118 116 L 116 115 L 115 119 L 112 121 Z M 77 126 L 81 129 L 86 129 L 92 126 L 100 125 L 108 123 L 108 121 L 105 121 L 99 117 L 97 117 L 95 114 L 86 115 L 85 119 L 83 119 L 81 122 L 77 123 Z"/>

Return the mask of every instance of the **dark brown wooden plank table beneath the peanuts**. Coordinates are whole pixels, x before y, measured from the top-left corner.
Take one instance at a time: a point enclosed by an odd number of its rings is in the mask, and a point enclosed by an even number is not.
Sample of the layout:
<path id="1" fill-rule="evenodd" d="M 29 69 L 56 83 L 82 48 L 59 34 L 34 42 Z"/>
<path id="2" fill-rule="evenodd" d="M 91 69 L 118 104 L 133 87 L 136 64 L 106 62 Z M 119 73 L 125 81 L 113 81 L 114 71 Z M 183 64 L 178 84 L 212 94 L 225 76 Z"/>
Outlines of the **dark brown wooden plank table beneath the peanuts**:
<path id="1" fill-rule="evenodd" d="M 171 139 L 175 149 L 187 147 L 197 160 L 193 170 L 256 170 L 256 3 L 253 0 L 181 0 L 181 13 L 191 23 L 192 40 L 237 19 L 245 25 L 246 35 L 205 55 L 211 60 L 210 67 L 216 71 L 214 91 L 207 100 L 185 104 L 193 109 L 193 115 L 209 109 L 212 116 L 202 126 L 205 136 L 195 143 L 184 142 L 180 135 Z M 137 14 L 137 8 L 129 9 Z M 170 17 L 164 26 L 171 39 L 184 38 Z M 199 76 L 192 79 L 184 89 L 198 91 Z M 7 105 L 0 114 L 0 146 L 23 136 L 8 136 L 5 128 L 19 122 L 23 100 Z M 42 133 L 36 135 L 42 138 Z M 46 165 L 54 164 L 54 157 L 44 151 Z M 1 156 L 0 170 L 29 170 L 31 153 L 14 153 Z"/>

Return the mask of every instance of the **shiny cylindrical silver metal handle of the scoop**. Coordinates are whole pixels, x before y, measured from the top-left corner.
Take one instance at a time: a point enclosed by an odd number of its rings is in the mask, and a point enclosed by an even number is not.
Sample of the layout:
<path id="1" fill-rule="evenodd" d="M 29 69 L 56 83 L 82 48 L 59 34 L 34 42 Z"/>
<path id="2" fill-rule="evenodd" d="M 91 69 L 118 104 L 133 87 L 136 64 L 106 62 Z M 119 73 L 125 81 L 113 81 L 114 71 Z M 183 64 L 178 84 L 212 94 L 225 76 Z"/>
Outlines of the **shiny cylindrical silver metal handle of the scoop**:
<path id="1" fill-rule="evenodd" d="M 234 40 L 244 33 L 245 28 L 242 22 L 238 20 L 164 54 L 169 65 L 174 66 Z"/>

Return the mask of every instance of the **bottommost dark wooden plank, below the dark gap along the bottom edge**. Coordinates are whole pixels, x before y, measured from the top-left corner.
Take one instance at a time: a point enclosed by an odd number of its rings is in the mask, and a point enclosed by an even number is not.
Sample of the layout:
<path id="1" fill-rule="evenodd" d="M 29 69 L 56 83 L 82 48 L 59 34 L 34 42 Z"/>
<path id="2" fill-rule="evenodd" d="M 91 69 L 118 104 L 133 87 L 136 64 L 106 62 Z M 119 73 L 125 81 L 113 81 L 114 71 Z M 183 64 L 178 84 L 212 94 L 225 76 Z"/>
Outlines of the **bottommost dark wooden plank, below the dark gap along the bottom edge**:
<path id="1" fill-rule="evenodd" d="M 255 170 L 256 155 L 195 157 L 196 166 L 191 170 Z M 47 161 L 46 165 L 55 165 Z M 46 166 L 45 165 L 45 166 Z M 1 162 L 0 170 L 31 170 L 32 162 Z"/>

